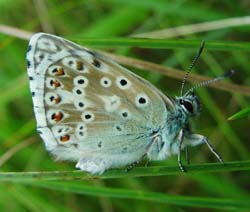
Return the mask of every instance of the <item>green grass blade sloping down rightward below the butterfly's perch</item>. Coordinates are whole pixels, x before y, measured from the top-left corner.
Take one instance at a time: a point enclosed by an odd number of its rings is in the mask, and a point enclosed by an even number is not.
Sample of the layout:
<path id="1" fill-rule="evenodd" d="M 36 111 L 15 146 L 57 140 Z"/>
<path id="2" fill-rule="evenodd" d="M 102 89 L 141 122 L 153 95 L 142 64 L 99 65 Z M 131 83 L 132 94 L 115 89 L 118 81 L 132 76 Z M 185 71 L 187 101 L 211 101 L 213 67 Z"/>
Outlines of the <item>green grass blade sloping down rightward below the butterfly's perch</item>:
<path id="1" fill-rule="evenodd" d="M 224 199 L 224 198 L 209 198 L 209 197 L 190 197 L 163 194 L 158 192 L 134 191 L 129 189 L 118 189 L 109 187 L 97 187 L 84 185 L 80 182 L 26 182 L 25 184 L 47 188 L 63 192 L 72 192 L 75 194 L 112 197 L 121 199 L 133 199 L 152 201 L 155 203 L 173 204 L 179 206 L 195 206 L 203 208 L 217 209 L 250 209 L 250 202 L 246 199 Z"/>

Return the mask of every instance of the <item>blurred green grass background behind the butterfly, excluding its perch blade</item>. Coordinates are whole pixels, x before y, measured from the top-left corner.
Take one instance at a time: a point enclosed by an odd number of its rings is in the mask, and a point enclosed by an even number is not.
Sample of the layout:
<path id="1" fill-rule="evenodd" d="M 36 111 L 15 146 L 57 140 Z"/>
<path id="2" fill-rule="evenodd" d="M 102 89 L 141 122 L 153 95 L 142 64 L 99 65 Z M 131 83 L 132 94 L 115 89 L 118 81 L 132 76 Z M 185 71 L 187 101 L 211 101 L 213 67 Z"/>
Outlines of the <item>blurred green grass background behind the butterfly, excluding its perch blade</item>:
<path id="1" fill-rule="evenodd" d="M 0 1 L 0 165 L 1 172 L 68 171 L 73 163 L 54 162 L 46 152 L 36 132 L 31 94 L 26 73 L 25 53 L 29 34 L 49 32 L 68 39 L 129 37 L 141 33 L 168 29 L 161 38 L 178 40 L 202 39 L 217 42 L 248 42 L 250 37 L 250 2 L 239 1 L 164 1 L 164 0 L 1 0 Z M 235 18 L 235 19 L 232 19 Z M 216 21 L 216 22 L 215 22 Z M 194 25 L 194 24 L 200 25 Z M 244 25 L 245 23 L 245 25 Z M 11 34 L 10 28 L 25 30 Z M 186 30 L 171 29 L 184 27 Z M 178 28 L 180 29 L 180 28 Z M 183 29 L 183 28 L 182 28 Z M 172 33 L 172 34 L 170 34 Z M 24 35 L 24 36 L 23 36 Z M 142 35 L 141 35 L 142 36 Z M 148 36 L 144 34 L 144 36 Z M 156 37 L 152 35 L 151 37 Z M 121 39 L 122 41 L 122 39 Z M 81 43 L 83 44 L 83 43 Z M 84 45 L 84 44 L 83 44 Z M 186 70 L 196 48 L 138 48 L 130 45 L 106 45 L 90 48 Z M 250 50 L 250 49 L 249 49 Z M 249 50 L 205 49 L 193 73 L 215 77 L 234 69 L 236 74 L 227 81 L 249 86 Z M 148 79 L 167 95 L 179 95 L 181 81 L 151 70 L 135 73 Z M 192 74 L 192 73 L 191 73 Z M 191 84 L 188 84 L 190 86 Z M 195 132 L 206 135 L 223 159 L 247 161 L 250 158 L 250 119 L 227 121 L 227 118 L 249 106 L 248 97 L 238 93 L 202 88 L 198 94 L 203 103 L 201 116 L 193 121 Z M 206 145 L 189 150 L 192 164 L 217 162 Z M 177 166 L 177 157 L 152 165 Z M 141 164 L 143 166 L 143 164 Z M 135 169 L 136 170 L 136 169 Z M 132 170 L 133 172 L 133 170 Z M 65 181 L 57 181 L 66 188 Z M 126 191 L 158 192 L 165 195 L 189 197 L 232 198 L 249 201 L 249 172 L 177 174 L 140 178 L 74 180 L 68 191 L 57 191 L 48 184 L 45 188 L 21 183 L 0 183 L 1 211 L 211 211 L 212 205 L 199 208 L 180 199 L 174 204 L 123 197 Z M 42 184 L 42 182 L 41 182 Z M 119 198 L 103 197 L 103 190 L 86 195 L 85 186 L 111 188 Z M 82 189 L 82 193 L 76 188 Z M 129 192 L 128 192 L 129 195 Z M 143 196 L 143 195 L 141 195 Z M 159 197 L 160 198 L 160 197 Z M 182 206 L 181 206 L 182 205 Z M 186 207 L 189 205 L 189 207 Z M 227 202 L 224 202 L 227 205 Z M 239 205 L 239 210 L 240 210 Z M 226 209 L 226 208 L 225 208 Z M 216 209 L 213 209 L 216 210 Z M 250 210 L 250 209 L 249 209 Z"/>

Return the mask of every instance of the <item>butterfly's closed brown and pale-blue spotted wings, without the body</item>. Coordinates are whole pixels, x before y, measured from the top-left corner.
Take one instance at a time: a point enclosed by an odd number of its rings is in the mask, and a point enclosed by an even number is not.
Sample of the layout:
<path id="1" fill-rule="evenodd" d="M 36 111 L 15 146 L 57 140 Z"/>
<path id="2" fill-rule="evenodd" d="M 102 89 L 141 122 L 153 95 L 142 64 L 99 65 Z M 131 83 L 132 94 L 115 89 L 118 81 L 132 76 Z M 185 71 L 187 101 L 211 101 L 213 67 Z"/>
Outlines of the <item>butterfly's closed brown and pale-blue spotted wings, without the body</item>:
<path id="1" fill-rule="evenodd" d="M 56 157 L 146 154 L 166 114 L 152 85 L 98 53 L 44 33 L 32 37 L 27 60 L 37 128 Z"/>

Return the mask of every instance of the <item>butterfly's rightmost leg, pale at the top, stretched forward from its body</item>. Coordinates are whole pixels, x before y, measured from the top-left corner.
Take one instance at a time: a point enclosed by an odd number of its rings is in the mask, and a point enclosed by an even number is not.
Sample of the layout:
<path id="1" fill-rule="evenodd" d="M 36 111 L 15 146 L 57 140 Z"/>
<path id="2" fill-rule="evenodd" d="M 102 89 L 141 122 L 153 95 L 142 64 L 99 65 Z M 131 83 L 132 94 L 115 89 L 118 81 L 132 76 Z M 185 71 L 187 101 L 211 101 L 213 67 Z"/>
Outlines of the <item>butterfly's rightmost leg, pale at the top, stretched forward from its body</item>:
<path id="1" fill-rule="evenodd" d="M 208 148 L 210 151 L 215 155 L 215 157 L 221 162 L 224 163 L 222 157 L 216 152 L 216 150 L 213 148 L 212 144 L 208 142 L 208 139 L 199 134 L 188 134 L 185 135 L 185 143 L 186 145 L 191 145 L 191 146 L 197 146 L 200 144 L 207 144 Z"/>

